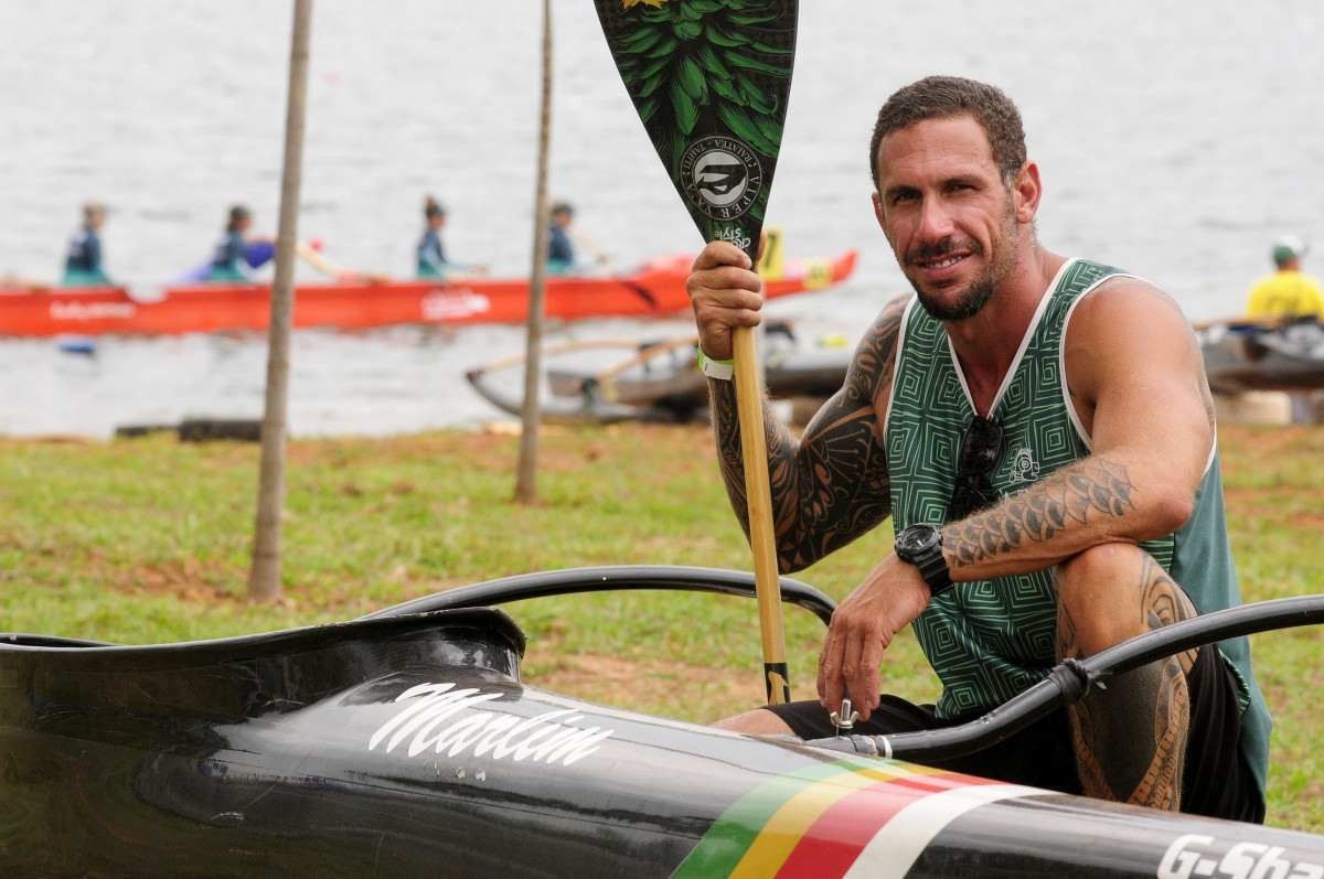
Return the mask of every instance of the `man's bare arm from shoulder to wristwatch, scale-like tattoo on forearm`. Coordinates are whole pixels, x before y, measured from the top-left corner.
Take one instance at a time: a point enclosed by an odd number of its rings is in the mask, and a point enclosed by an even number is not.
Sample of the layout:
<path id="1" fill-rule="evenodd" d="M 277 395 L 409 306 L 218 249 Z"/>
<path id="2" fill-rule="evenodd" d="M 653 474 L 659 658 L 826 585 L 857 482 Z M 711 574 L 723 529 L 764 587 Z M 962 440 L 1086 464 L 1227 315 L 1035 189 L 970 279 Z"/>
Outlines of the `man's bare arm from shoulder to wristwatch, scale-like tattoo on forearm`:
<path id="1" fill-rule="evenodd" d="M 1064 346 L 1063 380 L 1094 454 L 943 528 L 953 580 L 1041 571 L 1190 516 L 1214 426 L 1181 311 L 1148 285 L 1113 281 L 1076 307 Z"/>

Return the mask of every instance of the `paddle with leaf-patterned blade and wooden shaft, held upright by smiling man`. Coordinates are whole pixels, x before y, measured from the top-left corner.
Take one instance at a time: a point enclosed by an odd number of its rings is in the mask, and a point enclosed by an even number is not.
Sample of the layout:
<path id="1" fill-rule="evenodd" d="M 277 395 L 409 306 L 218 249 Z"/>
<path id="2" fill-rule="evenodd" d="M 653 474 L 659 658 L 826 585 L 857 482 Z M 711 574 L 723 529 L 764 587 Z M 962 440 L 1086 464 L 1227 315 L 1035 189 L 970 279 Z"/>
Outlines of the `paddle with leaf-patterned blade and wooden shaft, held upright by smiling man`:
<path id="1" fill-rule="evenodd" d="M 704 241 L 757 261 L 781 148 L 797 0 L 594 0 L 649 139 Z M 737 328 L 736 402 L 769 704 L 790 700 L 781 627 L 763 388 L 753 332 Z"/>

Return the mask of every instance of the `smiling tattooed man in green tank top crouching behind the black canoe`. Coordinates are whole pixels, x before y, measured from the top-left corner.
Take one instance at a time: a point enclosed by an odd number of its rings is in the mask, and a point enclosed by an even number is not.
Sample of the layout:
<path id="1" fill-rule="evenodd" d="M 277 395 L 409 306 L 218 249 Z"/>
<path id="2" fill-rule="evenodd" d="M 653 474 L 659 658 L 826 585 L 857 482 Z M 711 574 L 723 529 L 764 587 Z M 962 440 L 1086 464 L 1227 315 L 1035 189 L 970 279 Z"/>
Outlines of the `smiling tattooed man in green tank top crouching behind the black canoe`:
<path id="1" fill-rule="evenodd" d="M 1200 349 L 1152 285 L 1042 248 L 1039 169 L 1016 106 L 931 77 L 883 106 L 874 212 L 915 297 L 865 335 L 846 385 L 797 442 L 769 416 L 780 565 L 793 571 L 888 515 L 896 552 L 837 609 L 820 702 L 732 729 L 829 736 L 984 714 L 1066 657 L 1239 602 Z M 720 359 L 759 322 L 761 283 L 723 242 L 688 290 L 719 458 L 744 519 L 735 389 Z M 719 363 L 710 363 L 718 359 Z M 1178 585 L 1180 584 L 1180 585 Z M 914 624 L 936 707 L 879 696 Z M 1263 819 L 1268 715 L 1245 641 L 1156 662 L 949 768 L 1162 809 Z"/>

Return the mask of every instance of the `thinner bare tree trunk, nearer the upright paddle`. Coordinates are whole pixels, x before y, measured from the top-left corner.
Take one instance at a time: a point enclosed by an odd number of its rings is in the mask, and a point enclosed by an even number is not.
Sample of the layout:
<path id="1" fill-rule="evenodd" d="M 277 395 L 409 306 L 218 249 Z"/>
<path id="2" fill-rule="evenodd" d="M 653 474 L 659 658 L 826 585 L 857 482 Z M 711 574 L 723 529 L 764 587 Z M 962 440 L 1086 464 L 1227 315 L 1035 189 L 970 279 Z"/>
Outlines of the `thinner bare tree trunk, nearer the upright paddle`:
<path id="1" fill-rule="evenodd" d="M 524 429 L 519 436 L 515 500 L 538 500 L 538 426 L 543 373 L 543 310 L 547 289 L 547 154 L 552 130 L 552 4 L 543 0 L 543 113 L 538 132 L 534 195 L 534 270 L 528 279 L 528 335 L 524 342 Z"/>

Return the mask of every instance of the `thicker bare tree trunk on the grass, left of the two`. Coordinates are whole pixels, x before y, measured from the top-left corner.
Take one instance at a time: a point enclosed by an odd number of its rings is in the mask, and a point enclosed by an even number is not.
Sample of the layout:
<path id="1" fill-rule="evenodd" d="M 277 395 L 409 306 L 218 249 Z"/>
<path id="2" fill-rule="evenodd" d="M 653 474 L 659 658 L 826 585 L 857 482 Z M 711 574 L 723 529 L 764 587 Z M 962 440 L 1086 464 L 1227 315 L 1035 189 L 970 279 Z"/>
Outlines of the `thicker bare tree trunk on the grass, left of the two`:
<path id="1" fill-rule="evenodd" d="M 294 252 L 299 237 L 299 184 L 303 177 L 303 122 L 308 86 L 308 34 L 312 0 L 294 0 L 290 86 L 285 113 L 285 172 L 281 224 L 271 283 L 271 324 L 266 356 L 266 409 L 262 414 L 262 467 L 249 601 L 281 596 L 281 515 L 285 508 L 285 442 L 290 389 L 290 315 L 294 310 Z"/>

